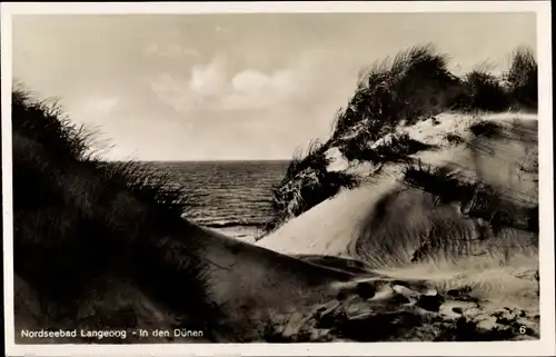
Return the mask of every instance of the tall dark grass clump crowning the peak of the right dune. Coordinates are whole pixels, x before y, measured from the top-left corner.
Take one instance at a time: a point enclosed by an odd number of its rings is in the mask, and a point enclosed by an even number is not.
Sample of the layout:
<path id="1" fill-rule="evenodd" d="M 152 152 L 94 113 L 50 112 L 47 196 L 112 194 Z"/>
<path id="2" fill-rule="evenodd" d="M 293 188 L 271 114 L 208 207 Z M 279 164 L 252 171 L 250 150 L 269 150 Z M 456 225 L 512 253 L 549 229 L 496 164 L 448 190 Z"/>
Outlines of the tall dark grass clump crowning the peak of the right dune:
<path id="1" fill-rule="evenodd" d="M 360 73 L 354 97 L 337 119 L 332 138 L 367 119 L 369 131 L 377 139 L 401 120 L 415 122 L 438 112 L 458 83 L 447 65 L 448 57 L 433 44 L 413 47 L 391 60 L 373 63 Z"/>

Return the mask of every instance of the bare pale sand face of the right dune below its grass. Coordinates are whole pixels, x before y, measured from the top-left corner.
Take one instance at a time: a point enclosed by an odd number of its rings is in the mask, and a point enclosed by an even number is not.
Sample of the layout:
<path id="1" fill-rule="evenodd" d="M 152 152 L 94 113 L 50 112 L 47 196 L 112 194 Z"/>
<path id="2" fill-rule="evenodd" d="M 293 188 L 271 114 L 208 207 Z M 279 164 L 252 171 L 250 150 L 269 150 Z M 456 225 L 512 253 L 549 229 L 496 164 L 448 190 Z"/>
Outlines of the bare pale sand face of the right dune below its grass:
<path id="1" fill-rule="evenodd" d="M 512 201 L 538 202 L 535 118 L 522 116 L 516 120 L 514 115 L 488 118 L 504 128 L 504 135 L 496 139 L 470 135 L 473 118 L 443 115 L 437 119 L 436 125 L 420 122 L 404 129 L 413 138 L 438 147 L 416 155 L 416 159 L 447 165 L 469 178 L 479 178 Z M 461 136 L 468 143 L 453 146 L 438 139 L 448 132 Z M 427 289 L 441 300 L 438 309 L 433 309 L 435 318 L 438 314 L 441 319 L 465 317 L 490 331 L 499 331 L 500 321 L 513 326 L 514 333 L 516 326 L 528 326 L 533 331 L 529 336 L 538 337 L 537 235 L 505 228 L 498 232 L 489 230 L 485 237 L 484 221 L 467 217 L 460 205 L 435 205 L 431 195 L 400 184 L 400 172 L 399 166 L 381 168 L 361 187 L 321 202 L 258 245 L 288 255 L 363 261 L 368 276 L 375 276 L 371 300 L 383 299 L 377 303 L 378 309 L 377 305 L 369 308 L 367 300 L 364 310 L 369 314 L 370 309 L 374 317 L 400 295 L 409 303 L 394 304 L 398 307 L 391 313 L 407 313 L 408 306 L 415 306 L 424 296 L 415 281 L 425 281 Z M 325 260 L 312 259 L 329 265 Z M 514 314 L 510 318 L 504 315 L 508 311 Z M 421 326 L 425 325 L 434 324 Z M 439 338 L 433 335 L 424 338 Z M 518 335 L 509 334 L 507 338 Z"/>

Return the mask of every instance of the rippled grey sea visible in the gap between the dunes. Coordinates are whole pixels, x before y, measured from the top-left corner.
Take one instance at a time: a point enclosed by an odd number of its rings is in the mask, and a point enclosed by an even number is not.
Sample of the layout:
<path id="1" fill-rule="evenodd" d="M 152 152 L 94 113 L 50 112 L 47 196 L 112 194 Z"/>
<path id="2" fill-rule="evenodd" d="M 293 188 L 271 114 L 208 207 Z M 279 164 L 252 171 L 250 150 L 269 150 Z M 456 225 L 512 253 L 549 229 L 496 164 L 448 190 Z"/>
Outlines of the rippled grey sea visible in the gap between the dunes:
<path id="1" fill-rule="evenodd" d="M 170 184 L 182 185 L 186 217 L 227 236 L 255 241 L 272 215 L 272 187 L 289 161 L 157 161 Z"/>

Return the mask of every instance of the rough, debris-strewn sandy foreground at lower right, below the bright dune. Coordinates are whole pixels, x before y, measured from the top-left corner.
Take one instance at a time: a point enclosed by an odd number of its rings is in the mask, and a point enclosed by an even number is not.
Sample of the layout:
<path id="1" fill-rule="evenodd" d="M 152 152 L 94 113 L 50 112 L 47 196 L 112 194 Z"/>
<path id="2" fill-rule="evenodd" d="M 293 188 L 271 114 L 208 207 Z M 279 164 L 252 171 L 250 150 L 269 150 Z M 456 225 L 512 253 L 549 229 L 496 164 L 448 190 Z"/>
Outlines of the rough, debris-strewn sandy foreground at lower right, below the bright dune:
<path id="1" fill-rule="evenodd" d="M 210 296 L 232 339 L 265 341 L 480 340 L 538 337 L 535 259 L 514 256 L 373 268 L 296 256 L 207 231 Z M 526 334 L 517 329 L 527 326 Z"/>

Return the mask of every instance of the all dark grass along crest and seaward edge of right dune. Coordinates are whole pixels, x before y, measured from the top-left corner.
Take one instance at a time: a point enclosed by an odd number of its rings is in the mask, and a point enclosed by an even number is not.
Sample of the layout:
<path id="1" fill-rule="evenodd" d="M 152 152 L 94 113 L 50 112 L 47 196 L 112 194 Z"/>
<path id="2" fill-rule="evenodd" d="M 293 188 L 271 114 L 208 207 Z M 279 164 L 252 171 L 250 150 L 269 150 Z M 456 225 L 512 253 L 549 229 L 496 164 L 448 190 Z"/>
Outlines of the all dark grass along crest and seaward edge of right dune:
<path id="1" fill-rule="evenodd" d="M 427 149 L 416 140 L 393 137 L 370 146 L 399 126 L 413 125 L 444 111 L 500 112 L 510 109 L 537 109 L 537 62 L 533 51 L 520 47 L 512 53 L 509 69 L 494 76 L 477 68 L 461 77 L 448 70 L 448 57 L 426 44 L 399 52 L 361 71 L 356 91 L 346 108 L 338 111 L 331 137 L 312 143 L 305 156 L 296 152 L 284 179 L 274 189 L 275 216 L 267 230 L 299 216 L 335 196 L 341 187 L 354 187 L 355 175 L 328 172 L 326 151 L 338 148 L 349 161 L 399 161 Z M 495 128 L 471 128 L 494 135 Z M 459 145 L 463 138 L 446 138 Z"/>

